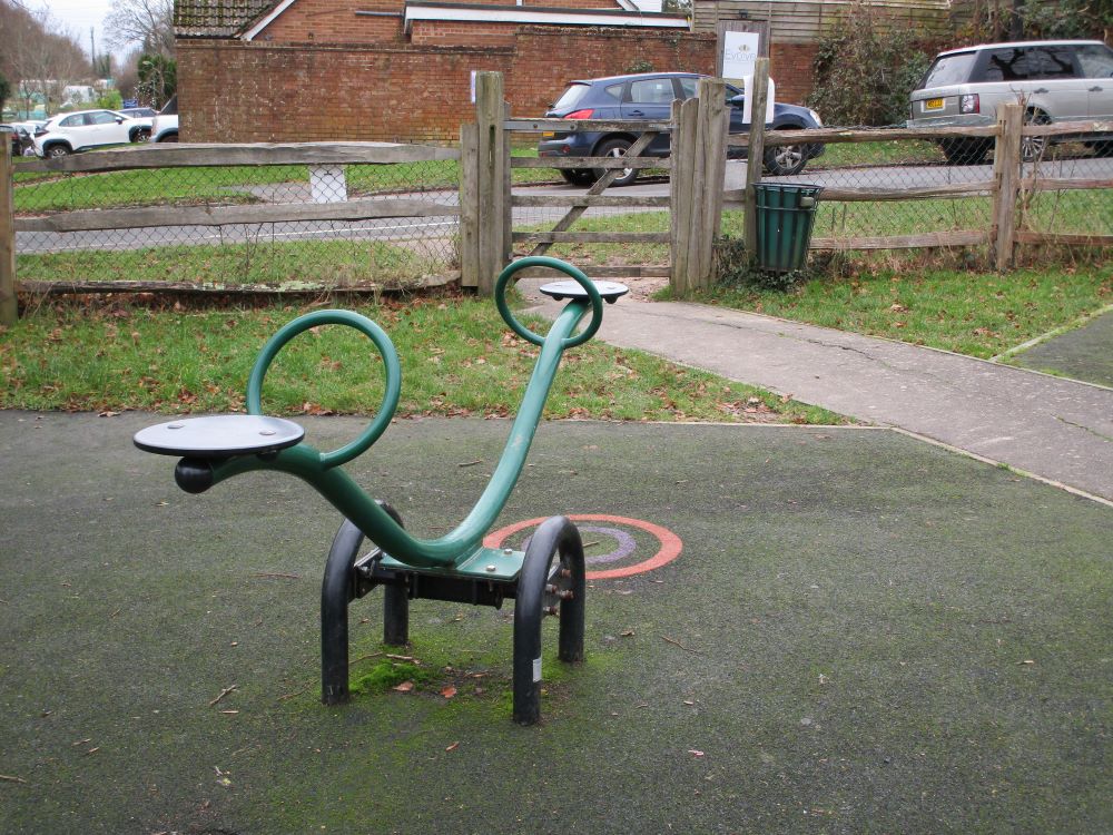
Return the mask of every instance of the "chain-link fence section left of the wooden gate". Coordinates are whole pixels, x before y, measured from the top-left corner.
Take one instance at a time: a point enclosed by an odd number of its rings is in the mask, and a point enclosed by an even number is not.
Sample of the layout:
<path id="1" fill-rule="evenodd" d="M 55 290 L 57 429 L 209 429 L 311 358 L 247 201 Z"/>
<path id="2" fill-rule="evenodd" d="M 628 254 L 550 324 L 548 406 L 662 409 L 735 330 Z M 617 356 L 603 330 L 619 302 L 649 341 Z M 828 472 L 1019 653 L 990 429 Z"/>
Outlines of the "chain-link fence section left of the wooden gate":
<path id="1" fill-rule="evenodd" d="M 443 283 L 457 271 L 459 167 L 436 159 L 55 173 L 17 163 L 17 274 L 24 286 Z"/>

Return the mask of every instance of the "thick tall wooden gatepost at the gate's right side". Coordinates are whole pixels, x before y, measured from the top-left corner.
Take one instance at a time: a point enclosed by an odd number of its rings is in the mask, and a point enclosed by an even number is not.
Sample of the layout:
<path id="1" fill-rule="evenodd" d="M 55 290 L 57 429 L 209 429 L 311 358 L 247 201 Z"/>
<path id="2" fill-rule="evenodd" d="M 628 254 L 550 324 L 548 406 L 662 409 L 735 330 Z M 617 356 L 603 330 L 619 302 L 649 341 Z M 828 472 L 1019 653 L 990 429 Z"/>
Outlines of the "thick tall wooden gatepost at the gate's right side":
<path id="1" fill-rule="evenodd" d="M 715 281 L 715 239 L 722 220 L 722 180 L 727 174 L 727 87 L 722 79 L 700 79 L 697 141 L 699 168 L 693 180 L 692 284 Z"/>

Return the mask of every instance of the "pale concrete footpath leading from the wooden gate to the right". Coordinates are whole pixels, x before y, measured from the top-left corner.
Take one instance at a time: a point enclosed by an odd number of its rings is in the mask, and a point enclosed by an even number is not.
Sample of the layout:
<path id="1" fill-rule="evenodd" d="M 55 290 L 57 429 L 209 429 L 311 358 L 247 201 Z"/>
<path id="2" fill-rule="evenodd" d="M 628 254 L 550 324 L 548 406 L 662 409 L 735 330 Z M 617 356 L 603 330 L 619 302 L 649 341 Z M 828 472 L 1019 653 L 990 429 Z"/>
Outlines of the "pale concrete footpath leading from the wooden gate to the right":
<path id="1" fill-rule="evenodd" d="M 1113 389 L 698 304 L 623 298 L 599 336 L 1113 501 Z"/>

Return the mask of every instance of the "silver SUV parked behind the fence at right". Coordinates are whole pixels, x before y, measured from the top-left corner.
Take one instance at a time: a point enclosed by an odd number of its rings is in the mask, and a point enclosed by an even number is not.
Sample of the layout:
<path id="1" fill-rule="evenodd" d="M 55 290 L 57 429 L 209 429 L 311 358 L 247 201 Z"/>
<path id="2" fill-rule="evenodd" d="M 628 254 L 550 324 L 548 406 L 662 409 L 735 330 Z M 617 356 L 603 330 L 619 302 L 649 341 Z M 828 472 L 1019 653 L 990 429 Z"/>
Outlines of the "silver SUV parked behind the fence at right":
<path id="1" fill-rule="evenodd" d="M 1040 40 L 940 52 L 913 90 L 908 127 L 984 127 L 996 120 L 998 105 L 1017 101 L 1034 124 L 1113 118 L 1113 49 L 1099 40 Z M 1100 155 L 1113 154 L 1113 135 L 1081 138 Z M 940 145 L 947 161 L 976 165 L 992 141 Z M 1024 158 L 1036 159 L 1044 145 L 1043 137 L 1025 137 Z"/>

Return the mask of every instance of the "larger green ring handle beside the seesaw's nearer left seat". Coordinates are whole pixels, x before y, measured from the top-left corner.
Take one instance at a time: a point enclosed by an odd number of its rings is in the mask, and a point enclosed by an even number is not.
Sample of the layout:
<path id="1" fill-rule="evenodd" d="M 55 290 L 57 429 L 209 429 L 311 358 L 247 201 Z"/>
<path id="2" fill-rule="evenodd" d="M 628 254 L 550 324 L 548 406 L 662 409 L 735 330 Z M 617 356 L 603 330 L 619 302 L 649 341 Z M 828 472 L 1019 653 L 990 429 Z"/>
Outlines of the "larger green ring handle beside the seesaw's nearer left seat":
<path id="1" fill-rule="evenodd" d="M 378 348 L 386 372 L 383 402 L 378 406 L 375 420 L 349 444 L 341 446 L 333 452 L 321 453 L 321 464 L 327 469 L 345 464 L 356 455 L 362 454 L 386 431 L 391 419 L 394 416 L 394 410 L 398 407 L 398 395 L 402 392 L 402 366 L 398 364 L 398 355 L 394 350 L 394 343 L 391 342 L 391 337 L 386 335 L 386 332 L 382 327 L 366 316 L 353 313 L 352 311 L 314 311 L 283 325 L 270 337 L 270 341 L 263 346 L 263 351 L 259 352 L 259 356 L 255 361 L 255 366 L 252 369 L 252 376 L 247 381 L 248 414 L 263 414 L 263 380 L 266 377 L 267 371 L 270 369 L 270 363 L 274 362 L 278 352 L 299 333 L 319 325 L 347 325 L 365 334 L 375 343 L 375 347 Z"/>

